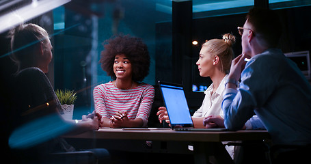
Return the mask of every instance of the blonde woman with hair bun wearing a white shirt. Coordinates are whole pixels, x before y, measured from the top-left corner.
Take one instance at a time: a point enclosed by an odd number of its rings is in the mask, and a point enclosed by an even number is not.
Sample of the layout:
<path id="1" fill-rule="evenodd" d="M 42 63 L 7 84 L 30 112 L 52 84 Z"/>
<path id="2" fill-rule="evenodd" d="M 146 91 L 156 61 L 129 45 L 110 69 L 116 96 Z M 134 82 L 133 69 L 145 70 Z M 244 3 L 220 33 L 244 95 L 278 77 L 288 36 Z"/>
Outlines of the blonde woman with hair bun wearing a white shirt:
<path id="1" fill-rule="evenodd" d="M 196 62 L 201 77 L 210 77 L 213 83 L 204 92 L 205 97 L 202 106 L 192 116 L 195 128 L 204 127 L 204 118 L 224 118 L 221 111 L 221 102 L 224 96 L 225 82 L 234 57 L 232 45 L 235 37 L 226 33 L 222 39 L 208 40 L 202 45 L 199 59 Z M 170 123 L 165 107 L 159 107 L 157 113 L 159 121 Z M 206 128 L 213 128 L 217 124 L 206 124 Z"/>

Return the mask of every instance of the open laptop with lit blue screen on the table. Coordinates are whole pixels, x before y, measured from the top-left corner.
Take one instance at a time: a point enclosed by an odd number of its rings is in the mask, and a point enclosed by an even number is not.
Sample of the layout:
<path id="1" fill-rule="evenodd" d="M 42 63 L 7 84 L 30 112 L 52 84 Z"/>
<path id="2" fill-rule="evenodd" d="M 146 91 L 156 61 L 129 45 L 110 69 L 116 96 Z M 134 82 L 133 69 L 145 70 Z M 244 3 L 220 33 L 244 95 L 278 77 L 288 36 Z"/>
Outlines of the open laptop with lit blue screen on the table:
<path id="1" fill-rule="evenodd" d="M 163 102 L 175 131 L 226 131 L 226 128 L 194 128 L 182 85 L 159 81 Z"/>

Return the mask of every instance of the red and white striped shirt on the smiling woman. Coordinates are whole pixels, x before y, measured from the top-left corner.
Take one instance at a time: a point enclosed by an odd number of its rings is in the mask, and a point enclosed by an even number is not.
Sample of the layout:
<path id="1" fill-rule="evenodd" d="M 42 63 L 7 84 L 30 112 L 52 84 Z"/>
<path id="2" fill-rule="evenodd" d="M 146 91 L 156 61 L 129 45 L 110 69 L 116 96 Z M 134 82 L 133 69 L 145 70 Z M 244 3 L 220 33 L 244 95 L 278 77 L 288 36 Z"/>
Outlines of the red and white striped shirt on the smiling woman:
<path id="1" fill-rule="evenodd" d="M 140 83 L 131 90 L 120 90 L 111 83 L 94 88 L 95 111 L 103 117 L 111 118 L 118 111 L 127 111 L 129 120 L 141 118 L 147 126 L 154 98 L 154 87 Z"/>

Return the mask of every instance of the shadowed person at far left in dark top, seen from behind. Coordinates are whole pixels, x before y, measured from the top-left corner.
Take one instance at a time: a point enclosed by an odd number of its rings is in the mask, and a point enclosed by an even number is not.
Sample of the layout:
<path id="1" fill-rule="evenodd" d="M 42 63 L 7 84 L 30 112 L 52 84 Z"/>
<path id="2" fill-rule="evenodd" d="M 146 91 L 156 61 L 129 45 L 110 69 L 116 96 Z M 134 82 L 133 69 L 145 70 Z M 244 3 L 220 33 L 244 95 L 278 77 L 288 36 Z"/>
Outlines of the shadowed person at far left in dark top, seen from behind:
<path id="1" fill-rule="evenodd" d="M 11 113 L 14 137 L 10 137 L 10 143 L 23 143 L 20 147 L 16 144 L 12 147 L 16 157 L 13 163 L 59 163 L 61 161 L 53 153 L 77 151 L 59 136 L 98 130 L 100 118 L 83 115 L 79 121 L 63 120 L 60 114 L 64 111 L 45 75 L 53 57 L 53 46 L 45 29 L 31 23 L 20 25 L 10 31 L 10 39 L 11 57 L 18 66 L 14 74 L 14 110 Z M 107 150 L 90 151 L 96 154 L 98 163 L 110 161 Z"/>

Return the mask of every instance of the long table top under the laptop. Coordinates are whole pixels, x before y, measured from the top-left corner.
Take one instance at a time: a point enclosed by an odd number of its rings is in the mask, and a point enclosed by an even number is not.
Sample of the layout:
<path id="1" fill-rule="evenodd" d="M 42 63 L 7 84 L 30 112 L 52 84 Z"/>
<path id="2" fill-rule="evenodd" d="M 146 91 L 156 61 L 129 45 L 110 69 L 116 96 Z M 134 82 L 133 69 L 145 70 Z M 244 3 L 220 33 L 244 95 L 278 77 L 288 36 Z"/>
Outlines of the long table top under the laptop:
<path id="1" fill-rule="evenodd" d="M 267 131 L 174 131 L 171 129 L 142 129 L 124 131 L 122 128 L 100 128 L 79 135 L 64 136 L 80 139 L 137 139 L 154 141 L 247 141 L 270 139 Z"/>

